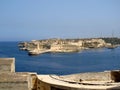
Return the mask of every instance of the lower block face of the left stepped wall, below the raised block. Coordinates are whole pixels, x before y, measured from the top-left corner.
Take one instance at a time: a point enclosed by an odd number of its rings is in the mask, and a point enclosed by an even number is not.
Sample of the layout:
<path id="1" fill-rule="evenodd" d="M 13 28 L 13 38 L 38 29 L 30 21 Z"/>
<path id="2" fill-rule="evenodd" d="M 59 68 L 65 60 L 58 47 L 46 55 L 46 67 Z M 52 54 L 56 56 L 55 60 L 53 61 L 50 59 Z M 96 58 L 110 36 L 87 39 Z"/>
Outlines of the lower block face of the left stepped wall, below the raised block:
<path id="1" fill-rule="evenodd" d="M 0 90 L 31 90 L 29 73 L 0 73 Z"/>

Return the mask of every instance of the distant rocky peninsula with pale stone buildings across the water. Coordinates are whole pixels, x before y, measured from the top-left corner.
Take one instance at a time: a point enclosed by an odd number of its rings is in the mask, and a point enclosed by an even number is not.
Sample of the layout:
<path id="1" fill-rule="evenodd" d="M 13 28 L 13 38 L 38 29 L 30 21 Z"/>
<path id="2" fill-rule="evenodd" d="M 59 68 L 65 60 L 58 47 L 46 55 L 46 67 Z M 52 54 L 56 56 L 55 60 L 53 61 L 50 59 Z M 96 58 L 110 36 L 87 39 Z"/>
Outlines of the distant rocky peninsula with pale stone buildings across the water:
<path id="1" fill-rule="evenodd" d="M 32 40 L 30 42 L 20 42 L 20 50 L 28 51 L 29 55 L 38 55 L 42 53 L 68 53 L 80 52 L 91 48 L 110 48 L 114 49 L 120 46 L 120 38 L 85 38 L 85 39 L 44 39 Z"/>

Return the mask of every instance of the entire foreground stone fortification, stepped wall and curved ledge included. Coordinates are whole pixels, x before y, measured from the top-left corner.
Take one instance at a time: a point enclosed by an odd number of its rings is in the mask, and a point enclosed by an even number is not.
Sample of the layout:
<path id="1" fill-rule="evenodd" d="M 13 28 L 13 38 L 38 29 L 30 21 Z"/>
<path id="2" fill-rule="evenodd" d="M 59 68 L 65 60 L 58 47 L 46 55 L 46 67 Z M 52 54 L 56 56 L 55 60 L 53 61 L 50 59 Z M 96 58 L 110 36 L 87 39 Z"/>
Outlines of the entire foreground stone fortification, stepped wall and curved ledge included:
<path id="1" fill-rule="evenodd" d="M 15 58 L 0 58 L 0 90 L 120 90 L 120 71 L 38 75 L 15 72 Z"/>

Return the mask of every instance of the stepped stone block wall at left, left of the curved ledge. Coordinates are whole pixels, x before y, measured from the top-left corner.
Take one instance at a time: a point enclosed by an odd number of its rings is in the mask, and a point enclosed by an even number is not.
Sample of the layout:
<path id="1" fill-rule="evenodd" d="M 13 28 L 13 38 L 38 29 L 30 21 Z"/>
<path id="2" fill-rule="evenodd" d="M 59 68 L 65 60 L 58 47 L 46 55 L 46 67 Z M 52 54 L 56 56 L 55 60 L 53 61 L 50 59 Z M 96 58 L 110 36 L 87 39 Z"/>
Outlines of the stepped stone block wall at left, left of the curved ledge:
<path id="1" fill-rule="evenodd" d="M 37 74 L 15 72 L 15 58 L 0 58 L 0 90 L 37 90 Z"/>

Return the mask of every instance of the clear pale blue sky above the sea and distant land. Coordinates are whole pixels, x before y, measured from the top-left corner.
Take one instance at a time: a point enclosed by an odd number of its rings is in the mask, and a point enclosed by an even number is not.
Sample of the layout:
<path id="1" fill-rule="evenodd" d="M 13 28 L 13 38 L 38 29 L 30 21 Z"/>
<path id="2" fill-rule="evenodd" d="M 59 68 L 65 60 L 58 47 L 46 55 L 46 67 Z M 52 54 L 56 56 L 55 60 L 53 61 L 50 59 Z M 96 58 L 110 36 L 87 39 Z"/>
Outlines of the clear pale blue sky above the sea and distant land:
<path id="1" fill-rule="evenodd" d="M 0 41 L 120 37 L 120 0 L 0 0 Z"/>

